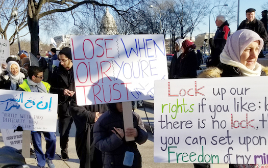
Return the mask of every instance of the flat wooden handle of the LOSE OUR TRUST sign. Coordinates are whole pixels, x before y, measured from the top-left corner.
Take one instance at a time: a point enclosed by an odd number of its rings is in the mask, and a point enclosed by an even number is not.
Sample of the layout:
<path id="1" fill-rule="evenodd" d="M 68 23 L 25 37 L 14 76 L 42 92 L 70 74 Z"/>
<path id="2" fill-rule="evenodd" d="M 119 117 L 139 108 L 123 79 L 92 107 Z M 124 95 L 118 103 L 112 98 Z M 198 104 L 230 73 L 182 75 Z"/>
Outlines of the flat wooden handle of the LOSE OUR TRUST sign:
<path id="1" fill-rule="evenodd" d="M 124 128 L 134 128 L 133 125 L 133 115 L 132 115 L 132 104 L 131 101 L 128 102 L 122 102 L 122 106 L 123 106 L 123 120 L 124 120 Z M 134 141 L 135 137 L 131 136 L 131 137 L 127 137 L 125 136 L 126 141 Z"/>

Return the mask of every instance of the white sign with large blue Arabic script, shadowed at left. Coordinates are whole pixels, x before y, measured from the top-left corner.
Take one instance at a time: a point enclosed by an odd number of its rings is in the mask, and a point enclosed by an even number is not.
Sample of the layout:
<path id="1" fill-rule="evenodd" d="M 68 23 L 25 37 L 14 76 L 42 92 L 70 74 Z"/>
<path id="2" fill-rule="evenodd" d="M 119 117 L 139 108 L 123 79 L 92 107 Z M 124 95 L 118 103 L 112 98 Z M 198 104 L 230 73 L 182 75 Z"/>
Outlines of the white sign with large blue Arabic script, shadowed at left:
<path id="1" fill-rule="evenodd" d="M 0 128 L 56 132 L 58 95 L 0 90 Z"/>

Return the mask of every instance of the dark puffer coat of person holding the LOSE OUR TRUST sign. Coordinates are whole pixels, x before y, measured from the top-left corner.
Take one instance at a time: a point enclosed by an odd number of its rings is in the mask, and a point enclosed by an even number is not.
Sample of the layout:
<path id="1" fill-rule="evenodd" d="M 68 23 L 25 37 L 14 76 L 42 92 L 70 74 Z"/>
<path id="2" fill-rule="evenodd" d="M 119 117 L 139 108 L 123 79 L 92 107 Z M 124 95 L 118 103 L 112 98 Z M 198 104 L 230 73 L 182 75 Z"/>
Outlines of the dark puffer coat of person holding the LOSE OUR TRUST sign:
<path id="1" fill-rule="evenodd" d="M 111 130 L 113 127 L 124 129 L 123 114 L 106 111 L 94 125 L 95 147 L 102 151 L 103 166 L 106 167 L 129 167 L 123 165 L 126 151 L 133 152 L 134 161 L 131 167 L 141 167 L 141 156 L 137 149 L 136 142 L 142 144 L 147 141 L 148 134 L 138 127 L 138 120 L 133 115 L 134 128 L 138 131 L 135 142 L 126 142 L 125 138 L 119 139 Z"/>

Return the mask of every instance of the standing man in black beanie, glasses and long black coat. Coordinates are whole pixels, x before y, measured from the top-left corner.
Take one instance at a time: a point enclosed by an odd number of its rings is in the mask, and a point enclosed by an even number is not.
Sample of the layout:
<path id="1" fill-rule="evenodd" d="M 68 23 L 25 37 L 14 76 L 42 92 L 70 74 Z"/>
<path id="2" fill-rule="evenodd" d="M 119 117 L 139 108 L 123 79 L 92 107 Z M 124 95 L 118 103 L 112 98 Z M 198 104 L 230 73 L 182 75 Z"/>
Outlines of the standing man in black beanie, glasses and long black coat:
<path id="1" fill-rule="evenodd" d="M 71 49 L 62 48 L 58 55 L 60 65 L 54 68 L 51 80 L 51 92 L 59 95 L 58 116 L 62 160 L 68 160 L 69 131 L 73 119 L 69 103 L 75 94 L 74 71 L 72 69 Z"/>

